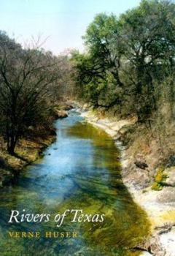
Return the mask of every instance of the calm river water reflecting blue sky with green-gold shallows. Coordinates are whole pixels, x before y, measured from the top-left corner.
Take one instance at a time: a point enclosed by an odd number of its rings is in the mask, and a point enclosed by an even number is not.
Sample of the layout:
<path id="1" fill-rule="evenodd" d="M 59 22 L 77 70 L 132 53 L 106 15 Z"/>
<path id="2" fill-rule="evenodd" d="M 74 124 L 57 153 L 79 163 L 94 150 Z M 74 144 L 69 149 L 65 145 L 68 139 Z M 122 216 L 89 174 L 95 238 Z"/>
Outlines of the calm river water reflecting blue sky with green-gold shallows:
<path id="1" fill-rule="evenodd" d="M 1 190 L 0 255 L 141 255 L 133 247 L 149 233 L 149 222 L 123 184 L 114 140 L 74 111 L 55 121 L 55 128 L 57 140 L 42 159 L 27 167 L 17 183 Z M 104 221 L 82 217 L 81 222 L 71 222 L 72 214 L 67 214 L 57 227 L 51 219 L 67 209 L 80 209 L 91 217 L 104 214 Z M 8 223 L 12 210 L 50 214 L 50 221 Z M 15 232 L 41 236 L 14 237 Z M 48 232 L 57 235 L 46 237 Z"/>

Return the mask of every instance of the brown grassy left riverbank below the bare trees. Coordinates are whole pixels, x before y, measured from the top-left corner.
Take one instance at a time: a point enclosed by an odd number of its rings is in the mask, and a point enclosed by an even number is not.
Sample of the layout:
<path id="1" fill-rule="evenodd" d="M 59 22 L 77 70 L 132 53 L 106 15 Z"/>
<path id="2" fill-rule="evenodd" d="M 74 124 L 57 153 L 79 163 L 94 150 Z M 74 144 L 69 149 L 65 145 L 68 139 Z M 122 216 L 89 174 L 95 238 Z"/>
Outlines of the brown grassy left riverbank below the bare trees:
<path id="1" fill-rule="evenodd" d="M 67 103 L 55 104 L 50 108 L 50 118 L 53 122 L 58 118 L 68 116 L 67 110 L 73 108 Z M 0 137 L 0 188 L 12 184 L 15 178 L 19 175 L 27 165 L 31 165 L 36 159 L 42 156 L 47 146 L 50 146 L 56 138 L 54 127 L 29 127 L 28 136 L 21 138 L 15 148 L 15 154 L 10 155 L 7 152 L 6 143 Z"/>

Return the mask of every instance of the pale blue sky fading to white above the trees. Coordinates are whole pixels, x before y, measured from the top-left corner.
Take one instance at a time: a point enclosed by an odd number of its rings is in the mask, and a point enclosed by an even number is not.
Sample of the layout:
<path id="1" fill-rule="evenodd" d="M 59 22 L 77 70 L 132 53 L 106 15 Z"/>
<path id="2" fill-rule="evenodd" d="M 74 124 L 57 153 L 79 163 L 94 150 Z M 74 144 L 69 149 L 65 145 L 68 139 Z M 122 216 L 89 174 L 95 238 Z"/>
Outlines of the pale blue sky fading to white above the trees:
<path id="1" fill-rule="evenodd" d="M 0 30 L 28 44 L 41 37 L 42 48 L 59 54 L 83 50 L 82 36 L 100 12 L 120 15 L 140 0 L 0 0 Z"/>

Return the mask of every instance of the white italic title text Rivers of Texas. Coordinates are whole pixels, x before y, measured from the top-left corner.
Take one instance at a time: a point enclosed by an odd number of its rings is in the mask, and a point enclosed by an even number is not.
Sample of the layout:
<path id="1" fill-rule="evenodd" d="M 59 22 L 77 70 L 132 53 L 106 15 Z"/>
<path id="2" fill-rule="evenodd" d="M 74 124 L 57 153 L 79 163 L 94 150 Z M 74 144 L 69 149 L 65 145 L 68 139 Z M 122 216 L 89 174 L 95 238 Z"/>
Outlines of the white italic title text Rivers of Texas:
<path id="1" fill-rule="evenodd" d="M 105 214 L 85 214 L 81 209 L 67 209 L 63 214 L 55 214 L 53 221 L 57 227 L 61 227 L 64 219 L 71 217 L 71 222 L 104 222 Z M 20 222 L 49 222 L 51 214 L 28 214 L 26 209 L 22 212 L 12 210 L 8 223 Z"/>

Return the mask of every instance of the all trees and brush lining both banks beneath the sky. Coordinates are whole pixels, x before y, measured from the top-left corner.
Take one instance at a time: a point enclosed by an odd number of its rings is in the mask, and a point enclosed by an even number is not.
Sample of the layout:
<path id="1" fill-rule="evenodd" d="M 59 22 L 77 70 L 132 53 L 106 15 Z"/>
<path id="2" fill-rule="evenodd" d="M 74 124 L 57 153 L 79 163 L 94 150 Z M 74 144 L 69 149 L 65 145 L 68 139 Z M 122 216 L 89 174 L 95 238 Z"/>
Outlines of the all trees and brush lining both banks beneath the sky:
<path id="1" fill-rule="evenodd" d="M 24 49 L 1 31 L 0 143 L 8 154 L 22 140 L 52 135 L 53 118 L 66 116 L 60 101 L 76 97 L 101 116 L 136 117 L 123 130 L 125 143 L 137 140 L 135 155 L 141 148 L 160 162 L 174 155 L 174 14 L 167 0 L 143 0 L 120 17 L 98 14 L 83 37 L 85 53 L 60 56 Z"/>

